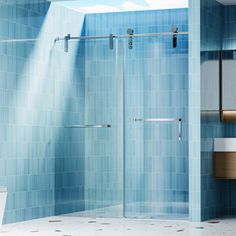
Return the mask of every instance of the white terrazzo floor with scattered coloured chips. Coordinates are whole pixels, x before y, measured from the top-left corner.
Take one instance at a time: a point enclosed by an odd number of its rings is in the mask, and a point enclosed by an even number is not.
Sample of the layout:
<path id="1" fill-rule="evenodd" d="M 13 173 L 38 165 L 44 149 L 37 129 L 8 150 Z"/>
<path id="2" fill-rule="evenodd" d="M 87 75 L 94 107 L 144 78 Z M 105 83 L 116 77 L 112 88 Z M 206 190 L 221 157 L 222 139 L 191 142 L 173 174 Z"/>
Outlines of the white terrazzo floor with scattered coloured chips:
<path id="1" fill-rule="evenodd" d="M 50 217 L 4 225 L 6 236 L 235 236 L 236 219 L 204 223 L 136 219 L 92 219 L 84 217 Z"/>

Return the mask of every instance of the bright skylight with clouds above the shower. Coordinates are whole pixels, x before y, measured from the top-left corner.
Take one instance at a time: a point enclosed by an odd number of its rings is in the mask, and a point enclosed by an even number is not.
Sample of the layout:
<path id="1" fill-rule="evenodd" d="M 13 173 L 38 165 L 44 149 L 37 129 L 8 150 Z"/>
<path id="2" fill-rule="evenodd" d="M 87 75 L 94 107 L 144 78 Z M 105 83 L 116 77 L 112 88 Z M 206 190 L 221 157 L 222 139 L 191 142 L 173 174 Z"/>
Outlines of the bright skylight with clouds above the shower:
<path id="1" fill-rule="evenodd" d="M 187 8 L 188 0 L 80 0 L 59 4 L 83 13 Z"/>

